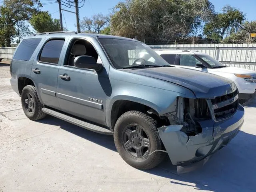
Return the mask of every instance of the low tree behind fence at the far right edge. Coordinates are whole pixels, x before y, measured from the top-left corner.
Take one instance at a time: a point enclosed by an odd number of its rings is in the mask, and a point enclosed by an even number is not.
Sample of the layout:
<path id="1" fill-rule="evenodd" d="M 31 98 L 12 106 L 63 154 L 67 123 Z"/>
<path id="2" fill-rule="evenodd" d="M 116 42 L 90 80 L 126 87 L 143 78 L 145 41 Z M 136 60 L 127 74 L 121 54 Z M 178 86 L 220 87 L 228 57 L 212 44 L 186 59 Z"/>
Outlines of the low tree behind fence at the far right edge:
<path id="1" fill-rule="evenodd" d="M 224 38 L 222 43 L 248 43 L 250 33 L 256 33 L 256 21 L 244 22 L 237 32 Z M 250 38 L 250 43 L 256 43 L 256 38 Z"/>

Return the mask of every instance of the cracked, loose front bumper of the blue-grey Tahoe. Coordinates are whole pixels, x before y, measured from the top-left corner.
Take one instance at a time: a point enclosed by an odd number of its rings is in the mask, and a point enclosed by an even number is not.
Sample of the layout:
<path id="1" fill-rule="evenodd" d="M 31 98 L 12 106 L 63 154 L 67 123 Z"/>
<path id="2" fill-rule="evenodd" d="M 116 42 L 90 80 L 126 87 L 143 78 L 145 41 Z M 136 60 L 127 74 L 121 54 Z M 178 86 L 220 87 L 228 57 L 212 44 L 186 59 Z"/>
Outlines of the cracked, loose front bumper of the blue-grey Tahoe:
<path id="1" fill-rule="evenodd" d="M 233 116 L 221 121 L 200 121 L 202 132 L 188 136 L 182 125 L 158 128 L 160 138 L 178 173 L 190 172 L 202 166 L 212 154 L 226 146 L 238 134 L 244 122 L 244 108 L 239 105 Z"/>

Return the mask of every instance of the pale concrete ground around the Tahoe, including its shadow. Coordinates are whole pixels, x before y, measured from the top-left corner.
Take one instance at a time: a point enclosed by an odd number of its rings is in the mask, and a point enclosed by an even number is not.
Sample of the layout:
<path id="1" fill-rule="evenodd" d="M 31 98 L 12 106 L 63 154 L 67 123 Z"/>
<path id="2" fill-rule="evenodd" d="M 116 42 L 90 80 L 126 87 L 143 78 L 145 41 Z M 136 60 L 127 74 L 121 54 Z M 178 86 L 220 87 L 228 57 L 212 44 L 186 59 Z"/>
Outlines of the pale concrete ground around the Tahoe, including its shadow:
<path id="1" fill-rule="evenodd" d="M 112 136 L 53 117 L 33 122 L 0 64 L 0 192 L 255 191 L 256 102 L 238 135 L 200 169 L 178 175 L 168 158 L 142 171 L 126 164 Z"/>

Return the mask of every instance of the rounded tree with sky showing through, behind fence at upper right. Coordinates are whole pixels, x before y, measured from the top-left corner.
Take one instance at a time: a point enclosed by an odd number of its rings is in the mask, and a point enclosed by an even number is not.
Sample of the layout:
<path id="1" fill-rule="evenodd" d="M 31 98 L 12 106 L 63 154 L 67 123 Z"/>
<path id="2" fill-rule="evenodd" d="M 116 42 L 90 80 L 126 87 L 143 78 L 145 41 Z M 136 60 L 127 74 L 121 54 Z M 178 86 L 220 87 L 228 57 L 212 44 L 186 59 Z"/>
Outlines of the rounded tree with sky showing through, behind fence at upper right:
<path id="1" fill-rule="evenodd" d="M 232 32 L 236 32 L 245 19 L 242 11 L 231 7 L 224 6 L 220 13 L 204 25 L 204 34 L 207 38 L 222 40 Z"/>

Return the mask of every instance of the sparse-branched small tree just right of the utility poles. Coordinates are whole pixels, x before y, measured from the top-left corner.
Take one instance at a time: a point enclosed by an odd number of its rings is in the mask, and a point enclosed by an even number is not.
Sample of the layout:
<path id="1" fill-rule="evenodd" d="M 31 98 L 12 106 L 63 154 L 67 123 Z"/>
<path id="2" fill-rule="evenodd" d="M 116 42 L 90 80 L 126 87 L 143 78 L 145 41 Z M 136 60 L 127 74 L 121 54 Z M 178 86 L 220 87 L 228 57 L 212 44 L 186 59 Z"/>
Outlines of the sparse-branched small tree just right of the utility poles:
<path id="1" fill-rule="evenodd" d="M 85 33 L 97 33 L 107 26 L 109 23 L 109 16 L 104 16 L 103 14 L 94 14 L 92 17 L 84 17 L 80 21 L 80 28 Z"/>

